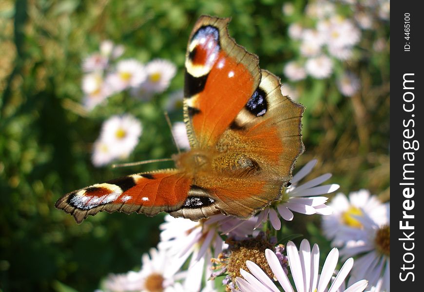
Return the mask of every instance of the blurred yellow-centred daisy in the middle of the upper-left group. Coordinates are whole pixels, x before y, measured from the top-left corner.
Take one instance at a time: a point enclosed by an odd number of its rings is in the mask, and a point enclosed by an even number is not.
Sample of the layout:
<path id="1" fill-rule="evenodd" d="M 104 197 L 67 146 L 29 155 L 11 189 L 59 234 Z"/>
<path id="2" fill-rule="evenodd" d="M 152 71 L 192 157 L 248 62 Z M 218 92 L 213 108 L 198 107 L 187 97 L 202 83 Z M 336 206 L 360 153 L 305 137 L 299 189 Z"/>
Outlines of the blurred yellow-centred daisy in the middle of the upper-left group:
<path id="1" fill-rule="evenodd" d="M 116 64 L 116 72 L 106 76 L 106 82 L 116 91 L 140 86 L 146 80 L 145 67 L 135 59 L 126 59 Z"/>

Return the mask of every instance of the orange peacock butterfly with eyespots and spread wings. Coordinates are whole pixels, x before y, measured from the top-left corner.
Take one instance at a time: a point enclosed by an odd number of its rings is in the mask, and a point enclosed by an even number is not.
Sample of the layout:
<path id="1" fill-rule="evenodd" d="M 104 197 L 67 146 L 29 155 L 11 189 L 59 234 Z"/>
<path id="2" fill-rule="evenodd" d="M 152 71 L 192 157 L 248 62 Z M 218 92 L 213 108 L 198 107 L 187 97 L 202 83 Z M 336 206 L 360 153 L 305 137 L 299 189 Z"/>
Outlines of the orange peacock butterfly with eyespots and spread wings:
<path id="1" fill-rule="evenodd" d="M 58 209 L 77 223 L 100 211 L 247 219 L 281 199 L 304 151 L 304 107 L 230 37 L 230 20 L 201 16 L 190 35 L 183 110 L 191 150 L 173 155 L 175 168 L 73 191 Z"/>

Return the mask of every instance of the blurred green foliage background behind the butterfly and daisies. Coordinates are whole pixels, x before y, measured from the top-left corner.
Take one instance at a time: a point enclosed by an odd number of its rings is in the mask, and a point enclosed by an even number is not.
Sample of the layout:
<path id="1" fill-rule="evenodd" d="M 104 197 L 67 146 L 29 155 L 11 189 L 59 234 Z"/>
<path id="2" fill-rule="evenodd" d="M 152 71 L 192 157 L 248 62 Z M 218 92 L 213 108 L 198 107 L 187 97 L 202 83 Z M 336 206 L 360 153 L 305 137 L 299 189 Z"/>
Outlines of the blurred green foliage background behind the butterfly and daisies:
<path id="1" fill-rule="evenodd" d="M 63 194 L 82 186 L 170 163 L 134 168 L 96 168 L 91 147 L 101 123 L 131 113 L 143 124 L 140 143 L 127 161 L 170 157 L 176 152 L 163 116 L 169 93 L 183 87 L 184 56 L 194 22 L 202 14 L 232 17 L 230 35 L 260 57 L 260 66 L 282 77 L 299 55 L 288 37 L 290 23 L 309 25 L 307 1 L 283 13 L 277 0 L 0 0 L 0 291 L 94 291 L 108 273 L 139 266 L 158 241 L 162 216 L 98 214 L 77 225 L 55 209 Z M 342 11 L 351 14 L 346 8 Z M 368 188 L 389 200 L 389 23 L 377 19 L 362 31 L 354 58 L 338 62 L 332 77 L 295 83 L 306 152 L 298 165 L 317 158 L 313 176 L 331 172 L 341 191 Z M 376 53 L 373 42 L 385 39 Z M 106 107 L 79 112 L 81 61 L 111 39 L 125 57 L 160 57 L 176 64 L 171 87 L 150 102 L 117 94 Z M 360 90 L 337 91 L 343 68 L 355 72 Z M 171 113 L 182 120 L 181 110 Z"/>

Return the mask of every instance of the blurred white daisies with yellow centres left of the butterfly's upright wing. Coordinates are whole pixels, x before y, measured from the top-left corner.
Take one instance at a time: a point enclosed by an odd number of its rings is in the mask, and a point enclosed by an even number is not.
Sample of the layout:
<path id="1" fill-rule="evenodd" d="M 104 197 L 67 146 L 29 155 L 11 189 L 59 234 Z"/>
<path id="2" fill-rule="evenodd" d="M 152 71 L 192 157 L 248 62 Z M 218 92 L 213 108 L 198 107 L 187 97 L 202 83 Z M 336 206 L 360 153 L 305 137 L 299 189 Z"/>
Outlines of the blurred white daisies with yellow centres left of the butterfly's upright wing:
<path id="1" fill-rule="evenodd" d="M 169 87 L 176 73 L 173 63 L 154 59 L 142 64 L 134 58 L 120 59 L 123 53 L 122 45 L 105 40 L 101 42 L 99 52 L 83 60 L 85 110 L 91 111 L 105 104 L 108 97 L 120 92 L 128 92 L 135 98 L 147 101 L 155 93 L 161 93 Z M 175 125 L 173 131 L 180 133 L 180 128 Z M 142 124 L 134 116 L 125 114 L 110 117 L 103 123 L 101 133 L 94 143 L 93 164 L 102 166 L 116 159 L 127 158 L 138 144 L 141 133 Z M 188 141 L 184 140 L 186 136 L 178 140 L 182 143 L 181 148 L 187 147 Z"/>

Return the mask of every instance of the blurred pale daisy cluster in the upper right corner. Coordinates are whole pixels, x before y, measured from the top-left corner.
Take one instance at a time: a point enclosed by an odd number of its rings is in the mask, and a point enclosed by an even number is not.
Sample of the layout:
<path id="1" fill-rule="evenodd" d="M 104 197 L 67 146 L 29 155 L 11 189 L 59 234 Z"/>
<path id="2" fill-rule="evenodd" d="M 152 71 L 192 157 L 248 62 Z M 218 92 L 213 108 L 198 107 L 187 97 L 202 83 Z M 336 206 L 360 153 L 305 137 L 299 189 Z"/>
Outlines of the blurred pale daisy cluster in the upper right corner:
<path id="1" fill-rule="evenodd" d="M 286 17 L 296 17 L 288 28 L 294 40 L 296 57 L 283 69 L 294 84 L 310 76 L 313 79 L 334 78 L 338 90 L 345 96 L 354 95 L 361 82 L 351 68 L 361 59 L 361 54 L 372 54 L 385 47 L 383 38 L 377 39 L 365 53 L 366 36 L 381 21 L 389 20 L 389 0 L 314 0 L 309 1 L 302 16 L 295 14 L 291 2 L 283 5 Z M 286 88 L 284 88 L 286 87 Z M 285 84 L 284 94 L 296 99 L 299 95 L 293 85 Z"/>

